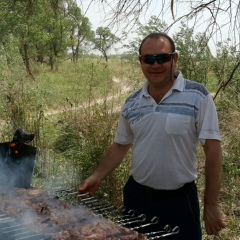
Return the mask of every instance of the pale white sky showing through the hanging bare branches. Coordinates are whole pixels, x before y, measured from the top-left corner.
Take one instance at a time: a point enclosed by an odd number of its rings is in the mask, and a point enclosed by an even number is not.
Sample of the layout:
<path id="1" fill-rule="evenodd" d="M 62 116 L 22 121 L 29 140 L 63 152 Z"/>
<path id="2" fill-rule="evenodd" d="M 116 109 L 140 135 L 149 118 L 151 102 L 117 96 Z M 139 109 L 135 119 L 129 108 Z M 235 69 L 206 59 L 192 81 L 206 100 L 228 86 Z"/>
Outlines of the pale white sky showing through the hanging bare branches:
<path id="1" fill-rule="evenodd" d="M 142 2 L 144 2 L 144 0 L 141 0 Z M 79 7 L 82 10 L 82 13 L 85 13 L 85 16 L 89 18 L 93 30 L 96 30 L 99 26 L 102 27 L 107 27 L 109 26 L 109 24 L 111 24 L 111 14 L 113 13 L 114 10 L 111 10 L 109 7 L 105 6 L 103 8 L 102 4 L 100 3 L 101 1 L 95 1 L 95 0 L 77 0 Z M 109 2 L 114 2 L 109 1 Z M 117 0 L 115 1 L 117 2 Z M 145 0 L 146 2 L 146 0 Z M 164 4 L 164 2 L 166 2 L 166 5 L 164 8 L 162 8 L 162 5 Z M 171 14 L 170 11 L 170 6 L 169 3 L 170 1 L 159 1 L 159 0 L 152 0 L 151 1 L 151 5 L 148 7 L 147 11 L 143 11 L 142 14 L 139 16 L 139 20 L 142 24 L 146 24 L 148 22 L 148 20 L 150 19 L 151 16 L 157 16 L 159 18 L 161 18 L 162 20 L 164 20 L 168 26 L 170 26 L 171 24 L 174 23 L 174 19 L 173 16 Z M 181 18 L 184 14 L 186 14 L 187 9 L 189 7 L 191 7 L 189 4 L 186 5 L 187 1 L 175 1 L 178 4 L 174 5 L 174 17 L 175 20 L 178 18 Z M 188 1 L 189 3 L 190 1 Z M 197 1 L 193 1 L 193 2 L 197 2 Z M 203 3 L 204 1 L 201 1 L 201 3 Z M 207 1 L 206 1 L 207 2 Z M 221 1 L 221 0 L 217 0 L 216 4 L 220 4 L 221 2 L 228 4 L 228 1 Z M 228 12 L 226 11 L 224 14 L 220 14 L 218 13 L 216 21 L 218 23 L 218 25 L 216 25 L 213 29 L 211 29 L 213 31 L 214 37 L 211 39 L 211 41 L 209 42 L 209 46 L 210 49 L 213 53 L 213 55 L 215 55 L 215 50 L 216 50 L 216 43 L 218 41 L 223 42 L 224 40 L 226 40 L 227 38 L 231 38 L 231 39 L 236 39 L 236 42 L 233 42 L 233 44 L 238 44 L 238 49 L 240 50 L 239 47 L 239 40 L 240 40 L 240 5 L 239 4 L 239 0 L 232 0 L 232 12 Z M 235 5 L 234 5 L 235 3 Z M 168 5 L 167 5 L 168 4 Z M 228 5 L 221 5 L 221 7 L 223 9 L 227 9 Z M 193 7 L 193 5 L 192 5 Z M 164 10 L 162 10 L 164 9 Z M 161 11 L 162 10 L 162 11 Z M 236 12 L 238 11 L 238 15 L 236 14 Z M 192 19 L 189 22 L 185 22 L 189 27 L 192 27 L 193 25 L 195 25 L 194 30 L 196 33 L 203 33 L 206 32 L 207 34 L 210 34 L 210 30 L 206 31 L 206 27 L 209 25 L 209 17 L 210 14 L 215 14 L 214 11 L 210 12 L 210 11 L 199 11 L 198 14 L 198 18 L 197 19 Z M 229 24 L 229 19 L 231 17 L 231 14 L 233 16 L 238 16 L 237 18 L 233 19 L 235 21 L 235 24 L 237 25 L 233 25 L 233 24 Z M 131 17 L 128 18 L 123 18 L 121 19 L 121 21 L 119 21 L 119 24 L 115 24 L 114 26 L 110 25 L 110 29 L 112 31 L 112 33 L 114 33 L 115 35 L 117 35 L 118 37 L 121 37 L 121 33 L 122 31 L 129 31 L 129 39 L 131 39 L 134 36 L 134 30 L 135 27 L 132 24 L 133 22 L 131 22 Z M 169 30 L 168 34 L 170 36 L 172 36 L 175 32 L 179 31 L 179 26 L 180 26 L 180 22 L 175 23 L 171 29 Z M 236 26 L 239 28 L 238 30 L 236 30 Z M 221 31 L 216 31 L 217 27 L 221 28 Z M 235 27 L 235 29 L 234 29 Z M 126 43 L 126 42 L 125 42 Z M 121 50 L 124 50 L 123 48 L 121 48 L 121 46 L 119 46 Z M 121 51 L 120 50 L 120 51 Z M 113 50 L 112 50 L 113 51 Z M 114 50 L 116 51 L 116 50 Z M 118 50 L 119 51 L 119 50 Z M 117 53 L 118 53 L 117 51 Z"/>

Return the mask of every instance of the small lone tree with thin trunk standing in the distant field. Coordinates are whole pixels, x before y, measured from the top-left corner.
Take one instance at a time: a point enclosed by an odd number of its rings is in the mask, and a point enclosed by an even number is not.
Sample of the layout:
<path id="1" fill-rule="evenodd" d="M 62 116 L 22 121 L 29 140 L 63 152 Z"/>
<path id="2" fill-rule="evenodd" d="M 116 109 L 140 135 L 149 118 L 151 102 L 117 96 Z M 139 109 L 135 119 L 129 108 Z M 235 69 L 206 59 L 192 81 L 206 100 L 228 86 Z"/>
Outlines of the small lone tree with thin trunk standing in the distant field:
<path id="1" fill-rule="evenodd" d="M 109 28 L 99 27 L 96 30 L 96 34 L 93 40 L 94 49 L 99 50 L 106 62 L 108 61 L 107 52 L 110 48 L 120 41 L 120 38 L 116 37 L 113 33 L 111 33 Z"/>

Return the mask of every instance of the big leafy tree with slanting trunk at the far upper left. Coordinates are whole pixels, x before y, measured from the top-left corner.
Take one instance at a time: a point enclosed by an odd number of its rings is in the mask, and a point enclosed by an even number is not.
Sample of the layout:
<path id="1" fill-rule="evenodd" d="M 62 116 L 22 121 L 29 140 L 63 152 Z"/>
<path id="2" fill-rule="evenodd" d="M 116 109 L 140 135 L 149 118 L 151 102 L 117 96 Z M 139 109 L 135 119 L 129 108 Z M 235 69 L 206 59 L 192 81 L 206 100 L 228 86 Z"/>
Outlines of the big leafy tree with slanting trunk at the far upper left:
<path id="1" fill-rule="evenodd" d="M 56 18 L 53 20 L 54 14 L 51 11 L 53 2 L 54 0 L 3 0 L 1 2 L 2 11 L 0 12 L 4 22 L 0 23 L 0 29 L 3 29 L 6 38 L 11 38 L 16 43 L 26 71 L 32 78 L 34 76 L 31 60 L 42 61 L 52 40 L 52 32 L 49 30 L 52 30 L 53 23 L 56 24 L 54 21 Z M 2 28 L 2 25 L 6 27 Z"/>

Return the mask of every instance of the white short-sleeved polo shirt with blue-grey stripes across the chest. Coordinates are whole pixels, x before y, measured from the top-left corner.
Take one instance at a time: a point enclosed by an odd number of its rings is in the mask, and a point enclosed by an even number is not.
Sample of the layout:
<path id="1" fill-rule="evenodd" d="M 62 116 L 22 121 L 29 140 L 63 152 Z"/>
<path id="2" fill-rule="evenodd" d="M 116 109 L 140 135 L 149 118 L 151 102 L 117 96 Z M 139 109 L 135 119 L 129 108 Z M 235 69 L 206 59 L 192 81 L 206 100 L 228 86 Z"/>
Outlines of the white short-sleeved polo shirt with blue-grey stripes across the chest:
<path id="1" fill-rule="evenodd" d="M 122 109 L 115 142 L 132 143 L 131 175 L 154 189 L 177 189 L 197 178 L 199 141 L 220 140 L 213 99 L 200 83 L 179 72 L 160 103 L 148 93 L 148 81 Z"/>

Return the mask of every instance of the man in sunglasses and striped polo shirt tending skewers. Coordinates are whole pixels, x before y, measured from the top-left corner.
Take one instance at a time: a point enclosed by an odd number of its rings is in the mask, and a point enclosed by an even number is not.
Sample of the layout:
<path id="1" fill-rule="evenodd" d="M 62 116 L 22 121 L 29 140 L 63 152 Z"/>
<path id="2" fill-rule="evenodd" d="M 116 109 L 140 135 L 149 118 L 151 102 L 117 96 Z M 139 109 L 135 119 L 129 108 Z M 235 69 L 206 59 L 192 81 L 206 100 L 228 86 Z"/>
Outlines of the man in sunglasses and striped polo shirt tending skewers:
<path id="1" fill-rule="evenodd" d="M 80 187 L 94 193 L 122 162 L 132 146 L 131 176 L 124 187 L 126 210 L 157 216 L 156 227 L 180 227 L 169 239 L 202 239 L 197 189 L 196 153 L 203 146 L 206 187 L 205 228 L 217 235 L 225 227 L 218 206 L 222 153 L 218 118 L 205 87 L 175 71 L 178 54 L 165 33 L 145 37 L 139 61 L 147 81 L 123 106 L 116 137 L 100 165 Z"/>

